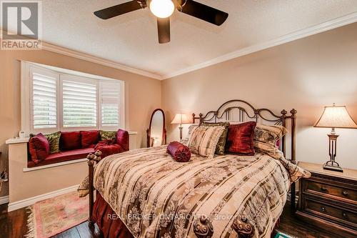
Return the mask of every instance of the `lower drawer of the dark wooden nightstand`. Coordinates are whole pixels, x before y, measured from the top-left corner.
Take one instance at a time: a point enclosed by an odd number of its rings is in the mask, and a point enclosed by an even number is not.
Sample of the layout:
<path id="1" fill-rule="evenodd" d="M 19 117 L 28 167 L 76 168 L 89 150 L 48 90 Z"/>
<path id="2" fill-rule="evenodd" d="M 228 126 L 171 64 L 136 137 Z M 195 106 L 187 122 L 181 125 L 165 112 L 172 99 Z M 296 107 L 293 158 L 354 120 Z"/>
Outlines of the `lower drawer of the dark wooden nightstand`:
<path id="1" fill-rule="evenodd" d="M 343 224 L 351 229 L 357 229 L 357 211 L 338 204 L 324 202 L 321 199 L 304 197 L 303 210 L 330 222 Z"/>

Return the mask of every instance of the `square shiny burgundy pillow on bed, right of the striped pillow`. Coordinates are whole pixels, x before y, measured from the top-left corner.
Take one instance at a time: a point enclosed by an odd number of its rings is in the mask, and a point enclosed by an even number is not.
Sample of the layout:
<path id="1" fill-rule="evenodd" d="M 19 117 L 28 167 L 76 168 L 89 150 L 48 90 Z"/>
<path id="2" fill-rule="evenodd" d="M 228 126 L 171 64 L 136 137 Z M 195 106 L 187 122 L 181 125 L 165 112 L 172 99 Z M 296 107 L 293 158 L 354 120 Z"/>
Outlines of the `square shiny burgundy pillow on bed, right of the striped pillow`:
<path id="1" fill-rule="evenodd" d="M 254 155 L 253 136 L 256 122 L 244 122 L 228 127 L 226 153 Z"/>

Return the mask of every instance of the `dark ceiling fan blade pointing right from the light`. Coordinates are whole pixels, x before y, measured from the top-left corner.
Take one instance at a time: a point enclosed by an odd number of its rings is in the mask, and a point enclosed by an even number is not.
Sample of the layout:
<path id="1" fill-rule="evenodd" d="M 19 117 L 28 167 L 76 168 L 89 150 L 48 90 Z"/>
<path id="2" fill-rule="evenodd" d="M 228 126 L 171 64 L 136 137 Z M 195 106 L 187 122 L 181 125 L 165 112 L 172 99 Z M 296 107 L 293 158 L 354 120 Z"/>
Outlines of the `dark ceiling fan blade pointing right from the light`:
<path id="1" fill-rule="evenodd" d="M 181 6 L 178 6 L 178 11 L 217 26 L 221 26 L 228 18 L 228 13 L 192 0 L 181 0 Z"/>

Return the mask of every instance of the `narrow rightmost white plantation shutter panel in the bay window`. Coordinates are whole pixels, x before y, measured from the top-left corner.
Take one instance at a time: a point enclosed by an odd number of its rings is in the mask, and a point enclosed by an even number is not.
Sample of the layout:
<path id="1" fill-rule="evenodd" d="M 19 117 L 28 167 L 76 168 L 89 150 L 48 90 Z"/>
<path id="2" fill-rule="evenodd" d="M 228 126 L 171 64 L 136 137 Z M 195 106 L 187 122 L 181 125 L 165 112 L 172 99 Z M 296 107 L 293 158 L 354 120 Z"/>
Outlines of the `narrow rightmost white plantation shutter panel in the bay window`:
<path id="1" fill-rule="evenodd" d="M 119 127 L 121 84 L 101 81 L 101 127 Z"/>

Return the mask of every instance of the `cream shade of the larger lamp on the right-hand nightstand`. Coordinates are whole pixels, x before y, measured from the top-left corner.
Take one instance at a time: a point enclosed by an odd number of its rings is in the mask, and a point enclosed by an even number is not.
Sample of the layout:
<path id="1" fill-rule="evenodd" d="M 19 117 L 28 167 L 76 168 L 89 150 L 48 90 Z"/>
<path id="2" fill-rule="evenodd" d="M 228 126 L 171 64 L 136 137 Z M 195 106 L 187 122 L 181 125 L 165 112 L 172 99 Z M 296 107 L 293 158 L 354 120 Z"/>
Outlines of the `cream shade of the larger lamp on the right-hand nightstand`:
<path id="1" fill-rule="evenodd" d="M 348 114 L 346 106 L 335 106 L 333 104 L 333 106 L 325 106 L 314 127 L 357 128 L 357 124 Z"/>

